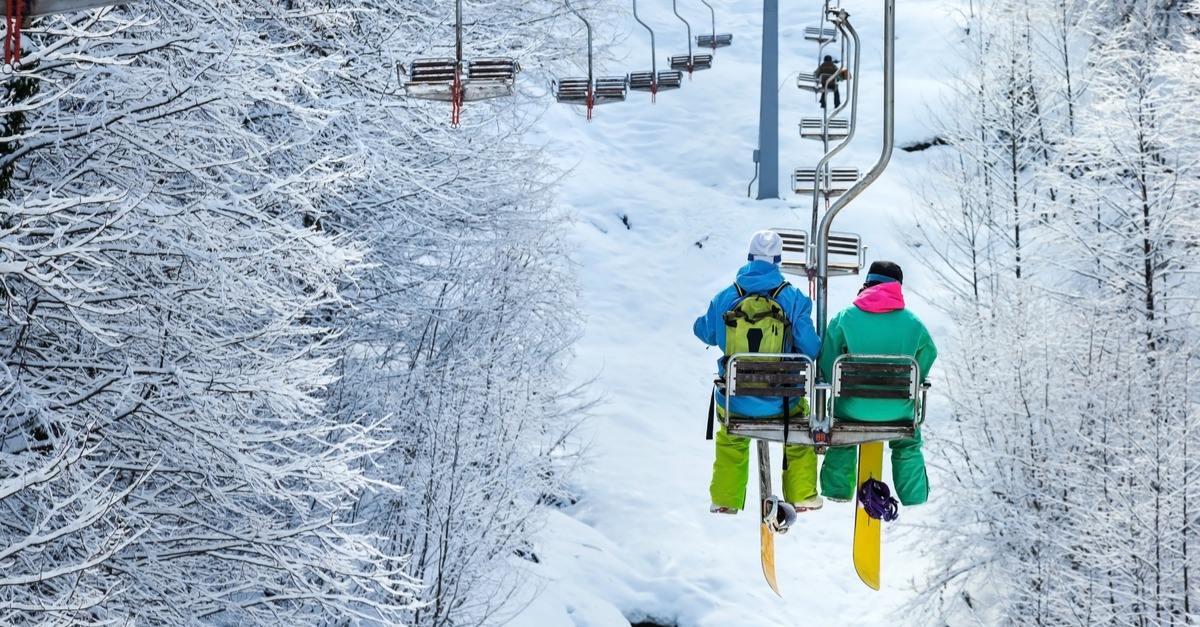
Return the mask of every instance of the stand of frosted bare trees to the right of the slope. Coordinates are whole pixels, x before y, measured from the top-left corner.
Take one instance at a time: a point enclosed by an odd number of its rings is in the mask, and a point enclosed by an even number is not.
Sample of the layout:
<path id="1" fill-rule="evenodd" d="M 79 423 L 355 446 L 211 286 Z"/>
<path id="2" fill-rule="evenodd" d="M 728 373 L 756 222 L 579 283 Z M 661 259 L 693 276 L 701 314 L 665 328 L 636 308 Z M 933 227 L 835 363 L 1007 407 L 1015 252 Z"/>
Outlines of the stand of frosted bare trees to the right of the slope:
<path id="1" fill-rule="evenodd" d="M 1049 89 L 1028 118 L 1044 131 L 1013 161 L 1013 180 L 1044 210 L 1026 214 L 1036 237 L 996 291 L 947 274 L 959 282 L 948 309 L 962 358 L 948 369 L 946 502 L 970 524 L 944 535 L 929 608 L 988 623 L 1187 623 L 1200 292 L 1186 268 L 1200 233 L 1196 151 L 1176 101 L 1195 83 L 1166 60 L 1195 34 L 1150 1 L 1021 4 L 973 26 L 1014 24 L 1050 44 L 1036 55 L 1052 60 L 1036 82 Z M 980 82 L 962 102 L 1007 102 L 997 85 Z M 947 155 L 947 185 L 962 190 L 948 198 L 970 202 L 936 207 L 928 229 L 958 268 L 962 251 L 996 239 L 986 220 L 953 217 L 1007 204 L 980 199 L 982 168 L 960 166 L 991 162 L 1000 143 L 984 144 Z"/>

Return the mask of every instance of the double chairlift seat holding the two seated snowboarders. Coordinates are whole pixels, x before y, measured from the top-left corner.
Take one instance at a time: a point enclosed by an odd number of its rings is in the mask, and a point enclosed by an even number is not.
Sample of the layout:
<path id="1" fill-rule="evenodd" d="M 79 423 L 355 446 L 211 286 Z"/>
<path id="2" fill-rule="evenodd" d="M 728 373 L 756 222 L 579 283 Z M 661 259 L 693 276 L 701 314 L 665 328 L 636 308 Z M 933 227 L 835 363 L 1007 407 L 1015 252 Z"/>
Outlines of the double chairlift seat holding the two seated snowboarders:
<path id="1" fill-rule="evenodd" d="M 917 362 L 904 354 L 844 354 L 834 360 L 830 399 L 894 399 L 912 401 L 912 418 L 882 423 L 832 419 L 827 444 L 815 444 L 808 417 L 746 418 L 731 416 L 733 396 L 781 396 L 798 399 L 816 386 L 812 360 L 794 353 L 738 353 L 726 363 L 725 378 L 718 383 L 726 396 L 721 422 L 730 435 L 786 442 L 790 444 L 854 446 L 912 437 L 925 419 L 928 383 L 920 380 Z M 811 402 L 810 402 L 811 406 Z"/>

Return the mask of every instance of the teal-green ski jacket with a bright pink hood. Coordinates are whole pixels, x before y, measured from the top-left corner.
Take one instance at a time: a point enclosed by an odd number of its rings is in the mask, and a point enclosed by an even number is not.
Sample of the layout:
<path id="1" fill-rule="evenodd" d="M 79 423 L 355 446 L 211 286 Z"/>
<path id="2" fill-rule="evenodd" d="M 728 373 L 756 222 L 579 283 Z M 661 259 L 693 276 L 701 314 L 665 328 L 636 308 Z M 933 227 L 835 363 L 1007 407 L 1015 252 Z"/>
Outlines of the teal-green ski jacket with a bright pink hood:
<path id="1" fill-rule="evenodd" d="M 829 321 L 817 358 L 826 381 L 830 381 L 834 359 L 845 353 L 907 354 L 917 359 L 924 380 L 937 359 L 937 346 L 920 318 L 904 307 L 900 283 L 888 282 L 863 289 L 854 304 Z M 912 401 L 838 399 L 833 416 L 887 422 L 911 418 L 912 411 Z"/>

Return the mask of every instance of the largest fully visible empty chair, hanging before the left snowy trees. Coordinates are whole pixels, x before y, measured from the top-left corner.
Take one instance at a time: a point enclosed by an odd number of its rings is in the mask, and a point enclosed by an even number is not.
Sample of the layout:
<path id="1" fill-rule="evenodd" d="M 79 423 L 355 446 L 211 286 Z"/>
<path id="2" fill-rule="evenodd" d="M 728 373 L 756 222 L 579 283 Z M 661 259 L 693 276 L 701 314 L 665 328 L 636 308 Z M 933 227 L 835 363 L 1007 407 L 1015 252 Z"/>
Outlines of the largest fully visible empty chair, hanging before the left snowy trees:
<path id="1" fill-rule="evenodd" d="M 514 95 L 518 70 L 516 60 L 506 56 L 463 59 L 462 0 L 456 0 L 455 58 L 413 60 L 404 94 L 413 98 L 450 102 L 450 124 L 458 126 L 463 102 Z"/>

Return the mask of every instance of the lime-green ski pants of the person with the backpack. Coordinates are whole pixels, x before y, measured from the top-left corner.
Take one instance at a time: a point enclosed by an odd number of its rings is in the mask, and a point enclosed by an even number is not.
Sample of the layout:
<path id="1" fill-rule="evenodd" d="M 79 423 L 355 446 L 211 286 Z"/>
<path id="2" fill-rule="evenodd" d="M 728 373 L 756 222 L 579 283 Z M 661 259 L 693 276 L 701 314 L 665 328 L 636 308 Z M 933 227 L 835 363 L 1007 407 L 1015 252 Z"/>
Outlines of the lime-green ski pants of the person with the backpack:
<path id="1" fill-rule="evenodd" d="M 750 478 L 750 438 L 731 436 L 725 425 L 716 430 L 716 461 L 708 491 L 713 504 L 745 509 L 746 480 Z M 817 454 L 811 447 L 784 447 L 787 470 L 784 471 L 784 500 L 808 501 L 817 495 Z"/>

